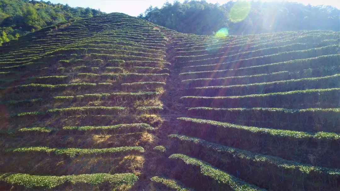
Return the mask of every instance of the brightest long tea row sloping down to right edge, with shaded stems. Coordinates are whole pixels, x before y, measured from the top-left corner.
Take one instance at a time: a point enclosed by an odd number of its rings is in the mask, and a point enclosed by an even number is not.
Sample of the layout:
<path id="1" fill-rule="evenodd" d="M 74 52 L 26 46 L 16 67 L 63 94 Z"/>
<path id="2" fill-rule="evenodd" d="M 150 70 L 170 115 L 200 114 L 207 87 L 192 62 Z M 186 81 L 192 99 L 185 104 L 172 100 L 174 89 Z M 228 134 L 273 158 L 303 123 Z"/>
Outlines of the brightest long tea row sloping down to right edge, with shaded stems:
<path id="1" fill-rule="evenodd" d="M 177 119 L 181 121 L 183 133 L 186 135 L 202 138 L 216 144 L 232 146 L 237 142 L 239 149 L 265 153 L 301 163 L 308 163 L 308 154 L 314 154 L 317 150 L 322 149 L 322 156 L 324 157 L 323 160 L 319 161 L 321 166 L 336 168 L 340 164 L 337 158 L 326 157 L 336 152 L 336 150 L 327 146 L 338 144 L 339 134 L 336 133 L 307 133 L 258 128 L 187 117 Z M 225 137 L 228 137 L 228 139 Z M 249 142 L 254 142 L 254 144 L 249 145 Z M 267 145 L 271 145 L 271 147 L 266 147 Z M 301 153 L 305 154 L 302 155 Z"/>

